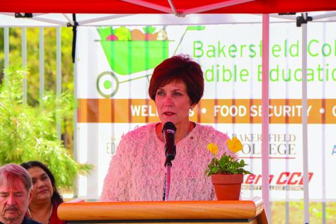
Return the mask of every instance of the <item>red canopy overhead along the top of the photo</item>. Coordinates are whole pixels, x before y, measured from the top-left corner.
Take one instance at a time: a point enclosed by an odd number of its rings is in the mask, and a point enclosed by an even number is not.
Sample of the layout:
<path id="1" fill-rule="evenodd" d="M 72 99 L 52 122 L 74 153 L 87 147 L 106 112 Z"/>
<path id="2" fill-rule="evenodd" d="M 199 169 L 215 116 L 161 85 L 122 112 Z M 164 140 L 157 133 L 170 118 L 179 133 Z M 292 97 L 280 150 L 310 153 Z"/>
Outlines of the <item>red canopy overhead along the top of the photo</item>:
<path id="1" fill-rule="evenodd" d="M 11 13 L 292 13 L 335 11 L 335 0 L 7 0 Z M 175 13 L 176 14 L 176 13 Z"/>

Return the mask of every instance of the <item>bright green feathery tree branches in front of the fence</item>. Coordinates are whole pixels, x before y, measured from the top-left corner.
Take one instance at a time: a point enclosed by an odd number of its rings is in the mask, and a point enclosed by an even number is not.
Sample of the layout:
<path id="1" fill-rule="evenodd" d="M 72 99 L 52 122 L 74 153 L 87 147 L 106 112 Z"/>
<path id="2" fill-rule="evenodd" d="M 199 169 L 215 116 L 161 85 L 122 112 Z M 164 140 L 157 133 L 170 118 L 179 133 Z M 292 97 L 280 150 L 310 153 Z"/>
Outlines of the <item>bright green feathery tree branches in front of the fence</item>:
<path id="1" fill-rule="evenodd" d="M 69 188 L 91 165 L 76 163 L 57 138 L 57 119 L 71 117 L 74 96 L 45 92 L 35 105 L 23 103 L 24 71 L 5 71 L 0 85 L 0 165 L 39 160 L 52 170 L 57 185 Z M 56 115 L 57 114 L 57 115 Z"/>

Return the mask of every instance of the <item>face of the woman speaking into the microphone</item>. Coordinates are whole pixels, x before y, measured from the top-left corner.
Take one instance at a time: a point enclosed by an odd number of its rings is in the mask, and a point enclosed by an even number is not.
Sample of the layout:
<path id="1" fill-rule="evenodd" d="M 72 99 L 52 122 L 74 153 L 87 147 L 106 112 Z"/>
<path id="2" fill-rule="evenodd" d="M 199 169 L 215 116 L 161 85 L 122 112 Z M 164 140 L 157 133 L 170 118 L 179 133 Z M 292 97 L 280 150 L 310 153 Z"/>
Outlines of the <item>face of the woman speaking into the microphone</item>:
<path id="1" fill-rule="evenodd" d="M 161 122 L 176 126 L 189 122 L 190 98 L 183 81 L 173 81 L 156 90 L 155 105 Z"/>

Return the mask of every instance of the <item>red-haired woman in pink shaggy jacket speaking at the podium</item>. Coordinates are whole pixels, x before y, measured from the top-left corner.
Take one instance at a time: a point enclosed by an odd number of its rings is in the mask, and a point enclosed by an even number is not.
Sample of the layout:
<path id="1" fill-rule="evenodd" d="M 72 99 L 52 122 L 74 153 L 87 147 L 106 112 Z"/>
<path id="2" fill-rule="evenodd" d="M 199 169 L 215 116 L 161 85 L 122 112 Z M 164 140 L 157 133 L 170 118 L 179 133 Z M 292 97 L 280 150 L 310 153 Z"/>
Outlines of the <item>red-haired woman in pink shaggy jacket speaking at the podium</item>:
<path id="1" fill-rule="evenodd" d="M 204 177 L 213 158 L 207 145 L 215 143 L 219 153 L 233 153 L 226 146 L 226 134 L 190 121 L 190 110 L 201 100 L 203 91 L 202 69 L 189 56 L 170 57 L 156 66 L 149 83 L 149 97 L 155 102 L 161 122 L 140 126 L 122 136 L 100 201 L 163 200 L 166 155 L 162 130 L 166 122 L 176 127 L 169 201 L 216 199 L 211 178 Z"/>

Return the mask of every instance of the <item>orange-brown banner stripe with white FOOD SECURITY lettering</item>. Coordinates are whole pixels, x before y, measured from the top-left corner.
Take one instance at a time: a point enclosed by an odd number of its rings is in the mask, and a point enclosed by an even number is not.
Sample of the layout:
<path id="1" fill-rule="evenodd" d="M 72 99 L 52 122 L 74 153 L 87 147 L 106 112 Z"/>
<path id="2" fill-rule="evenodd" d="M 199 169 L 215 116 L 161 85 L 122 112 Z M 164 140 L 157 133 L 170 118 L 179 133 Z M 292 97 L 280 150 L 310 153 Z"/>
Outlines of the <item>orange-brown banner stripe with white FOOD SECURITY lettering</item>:
<path id="1" fill-rule="evenodd" d="M 190 119 L 201 123 L 261 124 L 260 99 L 204 99 Z M 301 99 L 270 100 L 270 124 L 301 124 Z M 79 99 L 79 123 L 157 122 L 148 99 Z M 336 124 L 336 99 L 309 99 L 308 124 Z"/>

